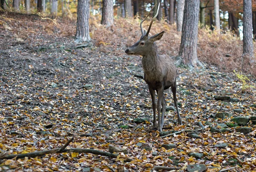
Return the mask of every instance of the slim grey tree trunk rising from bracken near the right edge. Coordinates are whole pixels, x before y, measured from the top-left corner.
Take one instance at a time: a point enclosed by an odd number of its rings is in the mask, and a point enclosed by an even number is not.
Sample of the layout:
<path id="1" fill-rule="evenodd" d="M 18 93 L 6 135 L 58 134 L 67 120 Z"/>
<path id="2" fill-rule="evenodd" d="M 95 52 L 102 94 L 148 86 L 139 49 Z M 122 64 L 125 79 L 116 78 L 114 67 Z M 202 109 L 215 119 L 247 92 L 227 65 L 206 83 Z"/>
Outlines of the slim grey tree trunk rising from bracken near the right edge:
<path id="1" fill-rule="evenodd" d="M 243 15 L 243 57 L 247 56 L 250 61 L 254 61 L 253 53 L 253 16 L 252 16 L 252 0 L 244 0 Z"/>

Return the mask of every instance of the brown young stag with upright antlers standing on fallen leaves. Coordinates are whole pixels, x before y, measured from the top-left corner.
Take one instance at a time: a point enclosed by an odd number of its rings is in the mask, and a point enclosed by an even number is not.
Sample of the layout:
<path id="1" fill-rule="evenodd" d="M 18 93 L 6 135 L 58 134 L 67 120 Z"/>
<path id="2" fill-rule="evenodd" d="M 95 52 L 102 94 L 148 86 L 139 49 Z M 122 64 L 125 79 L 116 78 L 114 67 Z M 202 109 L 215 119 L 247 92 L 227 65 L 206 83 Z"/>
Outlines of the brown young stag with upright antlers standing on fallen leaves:
<path id="1" fill-rule="evenodd" d="M 157 128 L 157 130 L 161 132 L 164 126 L 164 117 L 166 113 L 166 100 L 164 98 L 164 90 L 168 89 L 169 87 L 172 88 L 174 104 L 177 110 L 178 124 L 182 125 L 182 120 L 180 117 L 176 97 L 176 66 L 172 61 L 171 57 L 167 55 L 158 54 L 157 45 L 155 43 L 155 41 L 158 41 L 163 37 L 164 31 L 154 36 L 148 36 L 152 23 L 158 15 L 160 3 L 157 8 L 157 13 L 151 20 L 151 23 L 148 27 L 148 31 L 144 30 L 143 32 L 142 23 L 147 19 L 147 17 L 149 16 L 149 14 L 156 5 L 157 4 L 155 4 L 153 8 L 151 8 L 151 10 L 148 12 L 148 15 L 140 22 L 140 30 L 142 34 L 140 40 L 128 49 L 126 49 L 125 53 L 128 55 L 143 56 L 142 66 L 144 70 L 144 80 L 148 84 L 148 89 L 152 99 L 152 107 L 154 114 L 153 128 Z M 157 104 L 155 92 L 157 92 Z M 156 118 L 156 110 L 158 113 L 158 119 Z"/>

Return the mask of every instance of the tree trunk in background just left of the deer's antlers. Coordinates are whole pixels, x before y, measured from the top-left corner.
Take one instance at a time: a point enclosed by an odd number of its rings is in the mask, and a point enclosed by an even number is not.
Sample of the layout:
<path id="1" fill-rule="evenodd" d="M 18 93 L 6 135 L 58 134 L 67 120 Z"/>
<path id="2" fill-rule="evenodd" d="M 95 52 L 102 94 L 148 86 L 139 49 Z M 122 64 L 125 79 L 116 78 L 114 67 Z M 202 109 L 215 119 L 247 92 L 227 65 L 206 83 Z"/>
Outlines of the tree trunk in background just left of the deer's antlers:
<path id="1" fill-rule="evenodd" d="M 113 25 L 113 0 L 102 0 L 102 25 Z"/>

